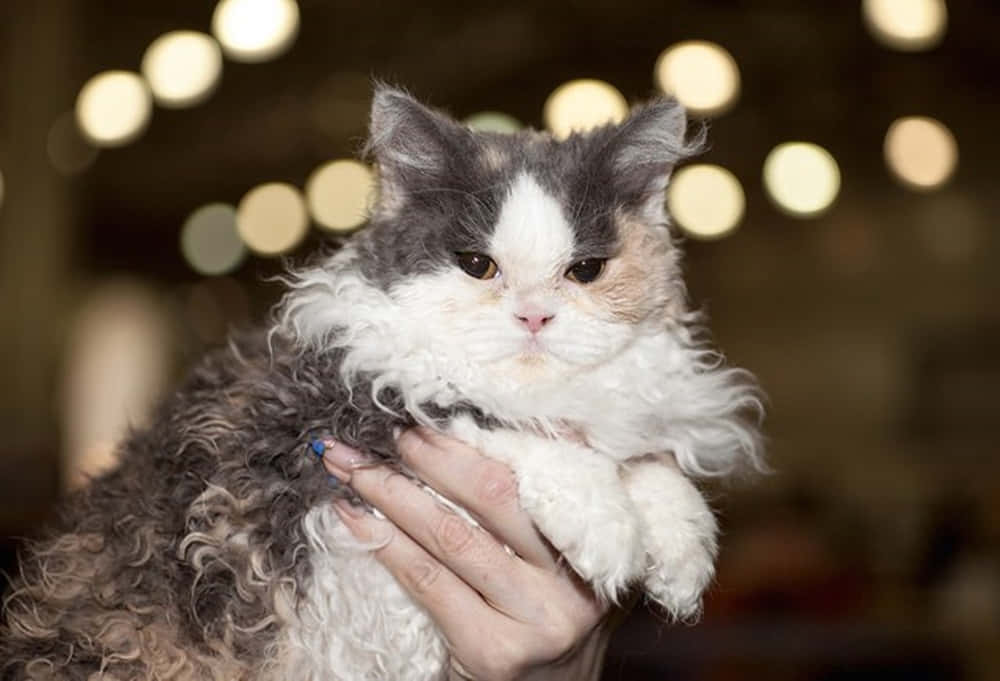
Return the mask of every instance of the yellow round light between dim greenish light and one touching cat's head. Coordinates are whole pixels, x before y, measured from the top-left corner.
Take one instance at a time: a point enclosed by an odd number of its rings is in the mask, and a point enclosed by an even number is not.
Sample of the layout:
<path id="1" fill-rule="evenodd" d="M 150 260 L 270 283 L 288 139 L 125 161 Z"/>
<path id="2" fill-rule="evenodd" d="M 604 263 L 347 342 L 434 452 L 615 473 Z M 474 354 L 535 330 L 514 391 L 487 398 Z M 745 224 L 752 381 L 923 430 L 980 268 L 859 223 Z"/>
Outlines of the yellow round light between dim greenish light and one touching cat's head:
<path id="1" fill-rule="evenodd" d="M 262 184 L 240 201 L 236 227 L 250 250 L 260 255 L 287 253 L 309 229 L 305 200 L 290 184 Z"/>

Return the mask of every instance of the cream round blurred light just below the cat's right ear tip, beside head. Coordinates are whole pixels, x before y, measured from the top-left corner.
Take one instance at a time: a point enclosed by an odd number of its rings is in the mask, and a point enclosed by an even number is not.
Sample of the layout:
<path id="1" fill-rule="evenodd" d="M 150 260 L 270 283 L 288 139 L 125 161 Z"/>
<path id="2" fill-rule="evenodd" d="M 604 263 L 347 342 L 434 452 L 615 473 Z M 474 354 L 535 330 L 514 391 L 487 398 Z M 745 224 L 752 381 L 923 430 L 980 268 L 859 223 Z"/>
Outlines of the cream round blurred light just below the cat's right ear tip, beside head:
<path id="1" fill-rule="evenodd" d="M 678 170 L 667 189 L 667 207 L 677 225 L 698 239 L 718 239 L 743 219 L 746 199 L 736 176 L 700 163 Z"/>

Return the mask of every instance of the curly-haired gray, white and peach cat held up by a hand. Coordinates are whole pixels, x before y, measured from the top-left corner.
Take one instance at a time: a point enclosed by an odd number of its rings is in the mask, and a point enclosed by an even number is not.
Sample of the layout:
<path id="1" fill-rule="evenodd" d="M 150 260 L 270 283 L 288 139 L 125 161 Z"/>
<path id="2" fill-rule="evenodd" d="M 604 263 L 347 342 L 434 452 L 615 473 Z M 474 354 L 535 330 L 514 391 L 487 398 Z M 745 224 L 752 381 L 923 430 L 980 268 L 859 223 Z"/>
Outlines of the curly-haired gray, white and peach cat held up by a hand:
<path id="1" fill-rule="evenodd" d="M 414 424 L 509 465 L 599 597 L 695 615 L 716 522 L 690 478 L 762 447 L 759 389 L 706 340 L 666 224 L 686 129 L 656 99 L 564 140 L 475 132 L 377 85 L 370 225 L 63 502 L 5 598 L 0 679 L 441 678 L 440 635 L 310 453 L 392 462 Z"/>

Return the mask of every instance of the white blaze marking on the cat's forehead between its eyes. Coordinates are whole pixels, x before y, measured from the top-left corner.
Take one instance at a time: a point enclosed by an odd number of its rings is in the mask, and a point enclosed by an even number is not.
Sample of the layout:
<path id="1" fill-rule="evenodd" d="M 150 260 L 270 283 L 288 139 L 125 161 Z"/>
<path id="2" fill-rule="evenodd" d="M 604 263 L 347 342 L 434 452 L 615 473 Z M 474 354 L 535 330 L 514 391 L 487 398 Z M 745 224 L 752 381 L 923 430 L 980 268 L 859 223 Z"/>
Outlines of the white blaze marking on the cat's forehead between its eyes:
<path id="1" fill-rule="evenodd" d="M 490 240 L 508 284 L 537 283 L 567 264 L 575 245 L 562 204 L 529 173 L 511 183 Z"/>

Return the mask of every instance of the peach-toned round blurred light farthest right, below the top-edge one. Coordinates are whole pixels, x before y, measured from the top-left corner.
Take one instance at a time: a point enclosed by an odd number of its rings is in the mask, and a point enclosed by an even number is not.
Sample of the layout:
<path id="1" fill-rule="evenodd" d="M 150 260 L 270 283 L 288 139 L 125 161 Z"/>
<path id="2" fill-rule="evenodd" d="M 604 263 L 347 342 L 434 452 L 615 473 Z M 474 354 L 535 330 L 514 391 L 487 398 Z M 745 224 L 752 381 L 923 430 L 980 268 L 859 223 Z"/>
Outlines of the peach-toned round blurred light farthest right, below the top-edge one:
<path id="1" fill-rule="evenodd" d="M 940 121 L 924 116 L 900 118 L 885 134 L 885 160 L 903 184 L 934 189 L 948 181 L 958 165 L 958 143 Z"/>

